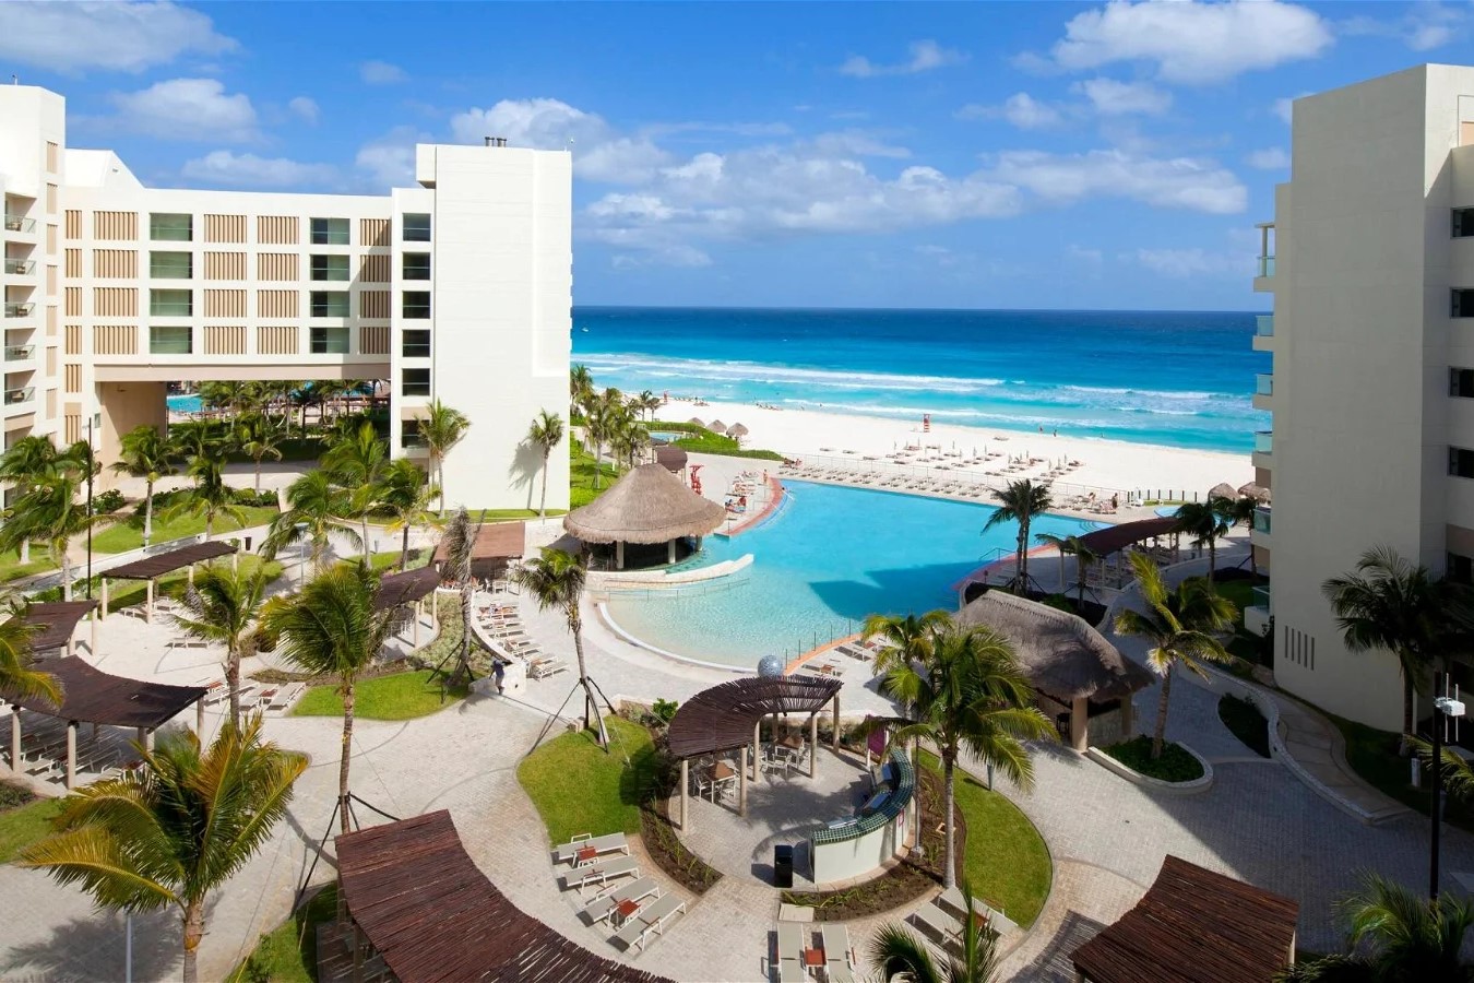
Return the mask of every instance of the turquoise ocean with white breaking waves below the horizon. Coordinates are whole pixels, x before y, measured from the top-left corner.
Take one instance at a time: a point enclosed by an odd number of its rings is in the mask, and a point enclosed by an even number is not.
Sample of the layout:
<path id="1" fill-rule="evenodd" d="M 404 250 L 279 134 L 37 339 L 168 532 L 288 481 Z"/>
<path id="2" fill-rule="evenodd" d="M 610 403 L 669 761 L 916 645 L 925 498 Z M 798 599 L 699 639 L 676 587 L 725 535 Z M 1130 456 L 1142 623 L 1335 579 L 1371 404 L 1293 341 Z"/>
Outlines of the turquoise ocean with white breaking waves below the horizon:
<path id="1" fill-rule="evenodd" d="M 576 307 L 598 386 L 1253 449 L 1254 314 Z"/>

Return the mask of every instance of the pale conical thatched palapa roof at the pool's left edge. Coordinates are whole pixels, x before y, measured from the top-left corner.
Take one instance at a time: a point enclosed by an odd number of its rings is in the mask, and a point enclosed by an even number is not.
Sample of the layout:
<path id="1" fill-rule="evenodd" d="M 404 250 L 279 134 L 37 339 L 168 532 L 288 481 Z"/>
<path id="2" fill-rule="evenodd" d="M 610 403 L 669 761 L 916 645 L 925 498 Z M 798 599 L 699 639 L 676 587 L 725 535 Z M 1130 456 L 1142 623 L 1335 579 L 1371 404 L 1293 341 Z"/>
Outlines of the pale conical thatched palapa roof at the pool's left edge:
<path id="1" fill-rule="evenodd" d="M 563 529 L 584 542 L 650 544 L 705 536 L 725 519 L 725 508 L 693 492 L 663 464 L 641 464 L 565 516 Z"/>

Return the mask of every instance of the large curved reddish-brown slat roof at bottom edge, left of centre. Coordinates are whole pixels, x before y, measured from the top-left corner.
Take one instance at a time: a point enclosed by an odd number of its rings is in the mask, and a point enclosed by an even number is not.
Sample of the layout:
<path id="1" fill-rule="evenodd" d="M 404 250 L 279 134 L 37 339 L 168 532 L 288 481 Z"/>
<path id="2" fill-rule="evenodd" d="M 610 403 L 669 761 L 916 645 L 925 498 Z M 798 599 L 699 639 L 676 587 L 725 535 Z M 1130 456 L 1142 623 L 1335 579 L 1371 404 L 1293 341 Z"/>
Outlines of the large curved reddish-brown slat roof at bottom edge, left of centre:
<path id="1" fill-rule="evenodd" d="M 663 983 L 565 939 L 476 868 L 445 809 L 339 836 L 348 912 L 401 983 Z"/>

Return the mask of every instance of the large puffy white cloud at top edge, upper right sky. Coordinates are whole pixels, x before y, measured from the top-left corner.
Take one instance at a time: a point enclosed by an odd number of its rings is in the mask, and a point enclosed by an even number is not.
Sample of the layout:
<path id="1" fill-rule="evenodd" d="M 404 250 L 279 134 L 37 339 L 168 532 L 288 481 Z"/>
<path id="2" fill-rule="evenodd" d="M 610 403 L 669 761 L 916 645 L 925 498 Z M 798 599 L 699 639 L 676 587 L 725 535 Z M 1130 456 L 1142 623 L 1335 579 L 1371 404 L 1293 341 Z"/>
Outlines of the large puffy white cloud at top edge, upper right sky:
<path id="1" fill-rule="evenodd" d="M 1316 57 L 1331 43 L 1321 15 L 1281 0 L 1110 0 L 1070 19 L 1052 55 L 1072 71 L 1153 62 L 1169 83 L 1206 85 Z"/>

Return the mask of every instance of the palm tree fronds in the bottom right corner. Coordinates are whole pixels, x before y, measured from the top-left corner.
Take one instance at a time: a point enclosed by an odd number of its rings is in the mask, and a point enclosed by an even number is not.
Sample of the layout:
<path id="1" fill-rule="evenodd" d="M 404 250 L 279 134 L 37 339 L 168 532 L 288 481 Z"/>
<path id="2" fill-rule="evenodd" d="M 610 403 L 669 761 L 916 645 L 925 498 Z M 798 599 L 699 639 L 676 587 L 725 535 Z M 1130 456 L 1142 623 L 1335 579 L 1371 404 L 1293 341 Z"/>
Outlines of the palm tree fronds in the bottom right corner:
<path id="1" fill-rule="evenodd" d="M 1402 884 L 1365 874 L 1362 890 L 1337 903 L 1350 921 L 1346 955 L 1300 962 L 1275 979 L 1281 983 L 1458 983 L 1474 980 L 1474 967 L 1459 958 L 1474 926 L 1474 908 L 1462 898 L 1418 898 Z"/>

